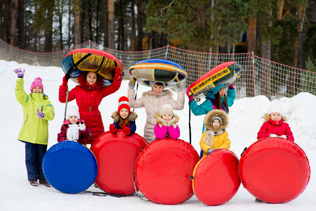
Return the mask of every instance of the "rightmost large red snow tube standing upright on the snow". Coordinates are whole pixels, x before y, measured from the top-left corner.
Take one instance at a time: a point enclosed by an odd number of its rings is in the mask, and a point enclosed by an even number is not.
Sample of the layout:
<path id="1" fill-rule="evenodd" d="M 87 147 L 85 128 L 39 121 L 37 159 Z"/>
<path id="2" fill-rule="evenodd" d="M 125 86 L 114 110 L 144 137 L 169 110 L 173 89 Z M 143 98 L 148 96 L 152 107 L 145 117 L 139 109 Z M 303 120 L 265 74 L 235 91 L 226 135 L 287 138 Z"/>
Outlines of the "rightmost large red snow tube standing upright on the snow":
<path id="1" fill-rule="evenodd" d="M 304 151 L 281 138 L 256 141 L 244 151 L 238 166 L 244 187 L 267 203 L 285 203 L 298 197 L 310 179 Z"/>

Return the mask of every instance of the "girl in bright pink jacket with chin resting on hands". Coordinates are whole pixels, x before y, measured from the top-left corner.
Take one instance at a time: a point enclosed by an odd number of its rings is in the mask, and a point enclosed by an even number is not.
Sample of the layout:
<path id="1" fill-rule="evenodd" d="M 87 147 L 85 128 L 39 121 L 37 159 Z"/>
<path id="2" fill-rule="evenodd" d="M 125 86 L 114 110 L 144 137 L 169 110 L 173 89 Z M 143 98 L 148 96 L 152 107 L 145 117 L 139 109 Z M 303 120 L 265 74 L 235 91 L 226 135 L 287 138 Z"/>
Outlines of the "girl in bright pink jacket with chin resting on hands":
<path id="1" fill-rule="evenodd" d="M 156 139 L 178 139 L 180 137 L 180 129 L 177 125 L 179 117 L 173 114 L 170 104 L 164 104 L 162 110 L 154 118 L 157 121 L 154 126 Z"/>

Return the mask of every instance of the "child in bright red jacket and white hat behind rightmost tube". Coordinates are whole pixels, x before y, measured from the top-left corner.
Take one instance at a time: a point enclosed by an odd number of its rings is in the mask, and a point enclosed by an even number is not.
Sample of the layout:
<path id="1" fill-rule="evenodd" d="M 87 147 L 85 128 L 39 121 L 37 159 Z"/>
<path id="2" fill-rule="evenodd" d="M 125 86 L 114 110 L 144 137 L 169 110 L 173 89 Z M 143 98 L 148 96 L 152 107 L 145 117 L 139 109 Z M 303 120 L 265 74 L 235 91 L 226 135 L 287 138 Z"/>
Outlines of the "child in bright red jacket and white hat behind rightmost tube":
<path id="1" fill-rule="evenodd" d="M 261 126 L 257 139 L 267 137 L 279 137 L 294 141 L 294 136 L 291 132 L 289 124 L 286 122 L 287 118 L 283 115 L 283 110 L 278 103 L 272 103 L 268 113 L 263 115 L 263 125 Z"/>

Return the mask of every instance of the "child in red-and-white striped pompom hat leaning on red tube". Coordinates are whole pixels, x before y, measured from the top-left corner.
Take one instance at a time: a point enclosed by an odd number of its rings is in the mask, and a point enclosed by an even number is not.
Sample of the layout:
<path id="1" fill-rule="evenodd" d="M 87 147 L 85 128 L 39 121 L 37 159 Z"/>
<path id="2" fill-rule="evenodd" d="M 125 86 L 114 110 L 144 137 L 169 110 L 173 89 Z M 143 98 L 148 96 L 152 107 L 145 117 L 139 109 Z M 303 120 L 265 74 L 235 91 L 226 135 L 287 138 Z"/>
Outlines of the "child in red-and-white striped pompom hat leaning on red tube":
<path id="1" fill-rule="evenodd" d="M 123 129 L 126 135 L 131 135 L 136 132 L 135 120 L 137 114 L 131 111 L 129 98 L 126 96 L 119 98 L 119 108 L 112 114 L 112 118 L 114 122 L 110 124 L 110 132 L 117 132 L 117 129 Z"/>

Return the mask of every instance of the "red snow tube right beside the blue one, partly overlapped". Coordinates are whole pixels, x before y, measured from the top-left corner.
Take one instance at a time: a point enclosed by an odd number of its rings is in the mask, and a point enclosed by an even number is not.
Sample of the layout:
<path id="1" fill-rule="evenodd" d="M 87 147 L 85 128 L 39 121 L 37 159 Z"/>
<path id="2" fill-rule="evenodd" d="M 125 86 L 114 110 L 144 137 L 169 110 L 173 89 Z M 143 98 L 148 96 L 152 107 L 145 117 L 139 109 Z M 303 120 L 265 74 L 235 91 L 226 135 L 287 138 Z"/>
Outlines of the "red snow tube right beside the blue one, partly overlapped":
<path id="1" fill-rule="evenodd" d="M 135 193 L 133 170 L 136 158 L 147 141 L 138 135 L 127 136 L 119 129 L 105 132 L 92 143 L 98 162 L 96 184 L 107 193 L 128 196 Z"/>

